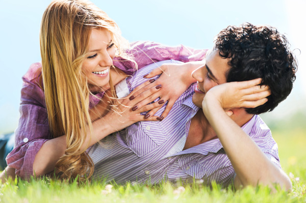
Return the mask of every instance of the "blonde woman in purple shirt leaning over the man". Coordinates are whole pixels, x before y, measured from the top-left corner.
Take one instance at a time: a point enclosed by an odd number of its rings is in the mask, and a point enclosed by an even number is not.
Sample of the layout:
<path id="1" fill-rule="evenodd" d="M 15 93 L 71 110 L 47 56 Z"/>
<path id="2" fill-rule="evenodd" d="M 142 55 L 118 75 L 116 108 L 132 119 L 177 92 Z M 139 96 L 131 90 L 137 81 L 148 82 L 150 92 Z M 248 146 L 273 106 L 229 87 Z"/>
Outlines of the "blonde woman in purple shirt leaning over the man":
<path id="1" fill-rule="evenodd" d="M 47 7 L 40 49 L 42 63 L 33 64 L 22 78 L 15 148 L 7 157 L 8 166 L 23 179 L 55 168 L 60 178 L 89 178 L 93 162 L 86 149 L 135 122 L 163 120 L 194 82 L 186 75 L 197 64 L 162 66 L 150 75 L 164 72 L 159 79 L 148 79 L 120 100 L 114 85 L 133 74 L 137 64 L 140 69 L 167 59 L 200 61 L 206 53 L 149 42 L 129 48 L 116 23 L 83 0 L 54 1 Z M 154 115 L 167 101 L 164 113 Z"/>

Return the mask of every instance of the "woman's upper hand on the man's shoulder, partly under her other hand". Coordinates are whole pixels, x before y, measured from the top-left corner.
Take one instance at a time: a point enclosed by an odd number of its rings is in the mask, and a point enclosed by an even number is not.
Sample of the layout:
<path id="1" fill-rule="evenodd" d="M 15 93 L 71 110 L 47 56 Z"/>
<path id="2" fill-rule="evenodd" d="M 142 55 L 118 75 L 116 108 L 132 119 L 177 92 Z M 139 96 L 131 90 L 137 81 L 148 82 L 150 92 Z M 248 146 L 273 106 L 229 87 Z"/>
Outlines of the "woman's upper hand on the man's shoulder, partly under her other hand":
<path id="1" fill-rule="evenodd" d="M 191 73 L 202 64 L 202 61 L 184 64 L 163 64 L 162 66 L 152 70 L 148 75 L 144 76 L 145 78 L 151 78 L 161 74 L 157 80 L 147 86 L 147 88 L 151 88 L 154 85 L 161 84 L 163 88 L 161 91 L 156 93 L 155 97 L 160 97 L 159 101 L 168 101 L 167 107 L 158 120 L 162 121 L 167 117 L 169 111 L 174 105 L 174 102 L 188 89 L 193 82 L 196 81 L 194 78 L 192 78 Z M 148 114 L 154 115 L 161 107 L 162 105 L 158 108 L 150 110 Z"/>

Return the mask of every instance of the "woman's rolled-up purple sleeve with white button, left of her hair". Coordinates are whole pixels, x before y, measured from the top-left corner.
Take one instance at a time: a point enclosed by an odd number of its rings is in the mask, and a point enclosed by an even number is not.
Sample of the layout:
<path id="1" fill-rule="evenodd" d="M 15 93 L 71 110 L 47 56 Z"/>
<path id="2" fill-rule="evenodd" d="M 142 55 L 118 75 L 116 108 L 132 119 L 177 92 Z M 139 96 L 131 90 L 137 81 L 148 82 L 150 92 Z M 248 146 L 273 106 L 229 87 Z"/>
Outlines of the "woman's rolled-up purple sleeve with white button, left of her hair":
<path id="1" fill-rule="evenodd" d="M 14 150 L 7 156 L 8 166 L 16 169 L 16 175 L 25 179 L 33 174 L 33 162 L 42 144 L 52 138 L 49 131 L 44 94 L 34 76 L 40 64 L 31 65 L 22 77 L 20 118 L 15 130 Z"/>

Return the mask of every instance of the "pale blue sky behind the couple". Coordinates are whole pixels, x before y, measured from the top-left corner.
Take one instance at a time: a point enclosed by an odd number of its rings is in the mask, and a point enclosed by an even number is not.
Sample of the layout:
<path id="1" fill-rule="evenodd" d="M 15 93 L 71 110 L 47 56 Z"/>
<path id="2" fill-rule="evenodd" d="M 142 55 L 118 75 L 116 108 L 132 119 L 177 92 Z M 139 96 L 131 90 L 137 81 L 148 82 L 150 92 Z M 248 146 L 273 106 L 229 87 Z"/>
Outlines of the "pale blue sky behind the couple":
<path id="1" fill-rule="evenodd" d="M 13 131 L 18 124 L 21 77 L 32 63 L 40 62 L 39 27 L 51 1 L 2 1 L 0 12 L 0 133 Z M 213 38 L 227 25 L 243 22 L 269 24 L 285 33 L 299 68 L 291 95 L 267 122 L 306 113 L 306 1 L 258 0 L 117 0 L 92 1 L 119 25 L 130 42 L 148 40 L 175 46 L 212 48 Z M 306 122 L 306 121 L 305 121 Z"/>

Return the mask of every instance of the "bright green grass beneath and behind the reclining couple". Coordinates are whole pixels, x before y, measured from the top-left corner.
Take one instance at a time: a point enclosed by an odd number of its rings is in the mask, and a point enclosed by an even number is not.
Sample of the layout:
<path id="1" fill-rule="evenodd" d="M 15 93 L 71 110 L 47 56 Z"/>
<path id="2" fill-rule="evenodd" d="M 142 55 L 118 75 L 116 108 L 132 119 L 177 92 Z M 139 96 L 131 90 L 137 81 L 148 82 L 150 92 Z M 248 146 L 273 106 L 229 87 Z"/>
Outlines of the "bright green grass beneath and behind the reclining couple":
<path id="1" fill-rule="evenodd" d="M 292 192 L 277 189 L 271 193 L 261 186 L 234 191 L 200 183 L 184 187 L 170 183 L 154 186 L 112 183 L 111 188 L 104 182 L 68 184 L 43 178 L 30 183 L 15 180 L 0 184 L 0 202 L 306 202 L 306 127 L 283 125 L 272 128 L 272 134 L 278 143 L 282 167 L 290 174 Z"/>

